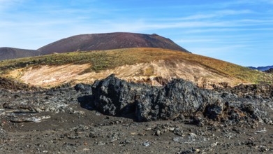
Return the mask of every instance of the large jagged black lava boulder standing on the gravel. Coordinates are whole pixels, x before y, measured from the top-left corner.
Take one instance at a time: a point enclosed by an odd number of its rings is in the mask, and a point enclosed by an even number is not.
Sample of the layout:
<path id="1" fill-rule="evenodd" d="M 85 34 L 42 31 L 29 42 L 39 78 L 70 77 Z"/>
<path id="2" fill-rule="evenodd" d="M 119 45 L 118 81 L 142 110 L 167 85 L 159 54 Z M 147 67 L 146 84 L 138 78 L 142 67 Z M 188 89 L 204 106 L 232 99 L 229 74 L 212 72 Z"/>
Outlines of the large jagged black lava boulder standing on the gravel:
<path id="1" fill-rule="evenodd" d="M 134 113 L 138 121 L 167 120 L 180 114 L 203 111 L 221 97 L 183 79 L 174 79 L 164 87 L 153 87 L 108 76 L 92 85 L 93 105 L 111 116 Z"/>

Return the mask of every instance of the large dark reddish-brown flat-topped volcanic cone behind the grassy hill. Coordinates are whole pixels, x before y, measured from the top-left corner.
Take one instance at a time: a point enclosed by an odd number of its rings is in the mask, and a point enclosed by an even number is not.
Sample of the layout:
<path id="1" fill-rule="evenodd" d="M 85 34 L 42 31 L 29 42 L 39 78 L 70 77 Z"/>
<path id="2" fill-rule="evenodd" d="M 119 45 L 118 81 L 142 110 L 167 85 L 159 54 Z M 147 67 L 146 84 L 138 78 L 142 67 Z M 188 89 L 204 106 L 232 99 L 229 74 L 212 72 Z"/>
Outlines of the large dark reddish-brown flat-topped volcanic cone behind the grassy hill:
<path id="1" fill-rule="evenodd" d="M 39 48 L 43 55 L 53 52 L 73 52 L 77 50 L 111 50 L 119 48 L 166 48 L 189 52 L 173 41 L 157 34 L 107 33 L 82 34 L 61 39 Z"/>

